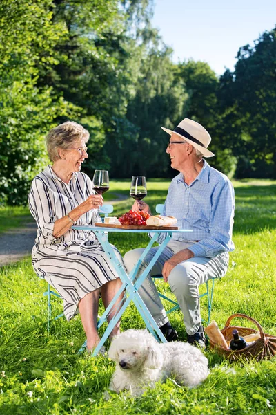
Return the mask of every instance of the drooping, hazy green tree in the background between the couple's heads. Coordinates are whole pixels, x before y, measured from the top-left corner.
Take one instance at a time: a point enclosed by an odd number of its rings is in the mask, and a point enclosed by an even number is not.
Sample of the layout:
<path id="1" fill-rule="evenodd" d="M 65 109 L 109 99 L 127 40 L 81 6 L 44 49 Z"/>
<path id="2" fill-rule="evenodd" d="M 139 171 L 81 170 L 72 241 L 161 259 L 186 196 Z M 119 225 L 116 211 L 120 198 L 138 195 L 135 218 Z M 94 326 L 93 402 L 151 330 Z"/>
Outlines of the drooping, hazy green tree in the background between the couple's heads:
<path id="1" fill-rule="evenodd" d="M 184 84 L 175 82 L 172 50 L 160 46 L 159 42 L 159 49 L 146 50 L 141 59 L 135 97 L 128 103 L 127 120 L 119 134 L 119 151 L 112 160 L 112 172 L 116 176 L 168 174 L 168 135 L 161 126 L 173 128 L 179 122 L 187 94 Z"/>

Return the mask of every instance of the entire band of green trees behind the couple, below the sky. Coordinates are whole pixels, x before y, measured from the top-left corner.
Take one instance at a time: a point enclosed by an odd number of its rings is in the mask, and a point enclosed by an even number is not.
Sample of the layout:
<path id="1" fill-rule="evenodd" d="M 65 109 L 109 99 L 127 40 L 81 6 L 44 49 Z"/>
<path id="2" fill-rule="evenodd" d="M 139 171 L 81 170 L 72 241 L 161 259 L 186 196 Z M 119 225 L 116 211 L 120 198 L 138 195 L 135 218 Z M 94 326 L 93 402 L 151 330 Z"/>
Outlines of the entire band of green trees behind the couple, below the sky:
<path id="1" fill-rule="evenodd" d="M 208 129 L 210 164 L 276 177 L 275 33 L 240 48 L 220 80 L 205 62 L 172 63 L 153 0 L 0 2 L 0 204 L 26 203 L 48 163 L 43 137 L 66 120 L 90 132 L 84 171 L 172 176 L 168 136 L 185 116 Z"/>

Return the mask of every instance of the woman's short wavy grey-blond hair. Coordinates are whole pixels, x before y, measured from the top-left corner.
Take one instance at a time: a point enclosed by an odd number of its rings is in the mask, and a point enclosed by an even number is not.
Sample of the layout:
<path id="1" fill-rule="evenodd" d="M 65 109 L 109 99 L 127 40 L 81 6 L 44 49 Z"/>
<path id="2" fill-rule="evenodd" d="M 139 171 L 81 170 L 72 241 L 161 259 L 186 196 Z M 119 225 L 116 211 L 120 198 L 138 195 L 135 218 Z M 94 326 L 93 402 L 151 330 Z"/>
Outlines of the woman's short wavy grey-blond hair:
<path id="1" fill-rule="evenodd" d="M 66 121 L 50 129 L 46 136 L 48 156 L 51 161 L 59 160 L 59 149 L 69 149 L 77 140 L 88 142 L 89 133 L 75 121 Z"/>

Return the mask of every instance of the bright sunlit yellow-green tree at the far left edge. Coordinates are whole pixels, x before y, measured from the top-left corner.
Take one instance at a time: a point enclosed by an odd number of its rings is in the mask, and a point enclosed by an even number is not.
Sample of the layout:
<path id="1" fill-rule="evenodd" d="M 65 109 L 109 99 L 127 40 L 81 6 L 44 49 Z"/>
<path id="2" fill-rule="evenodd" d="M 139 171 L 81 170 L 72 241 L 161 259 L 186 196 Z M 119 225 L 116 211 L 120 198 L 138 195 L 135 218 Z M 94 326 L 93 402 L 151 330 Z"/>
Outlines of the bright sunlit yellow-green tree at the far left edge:
<path id="1" fill-rule="evenodd" d="M 0 200 L 26 203 L 30 178 L 46 163 L 43 136 L 58 114 L 70 114 L 54 89 L 37 85 L 37 65 L 56 64 L 52 53 L 66 34 L 52 23 L 50 0 L 0 3 Z"/>

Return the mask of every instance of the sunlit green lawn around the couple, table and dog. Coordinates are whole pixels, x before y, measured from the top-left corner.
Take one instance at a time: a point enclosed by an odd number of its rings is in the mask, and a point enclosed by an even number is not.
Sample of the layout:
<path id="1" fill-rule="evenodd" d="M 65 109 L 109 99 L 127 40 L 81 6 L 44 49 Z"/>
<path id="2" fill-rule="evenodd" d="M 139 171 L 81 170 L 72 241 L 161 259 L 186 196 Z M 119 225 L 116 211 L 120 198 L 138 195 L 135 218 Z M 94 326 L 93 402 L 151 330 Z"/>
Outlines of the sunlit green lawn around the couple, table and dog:
<path id="1" fill-rule="evenodd" d="M 168 181 L 148 183 L 152 208 L 164 201 Z M 233 313 L 245 313 L 276 335 L 275 203 L 276 182 L 234 182 L 236 214 L 235 252 L 226 277 L 215 282 L 212 318 L 221 329 Z M 128 194 L 127 181 L 112 183 L 110 194 Z M 109 193 L 109 192 L 108 192 Z M 108 195 L 108 193 L 106 195 Z M 114 200 L 111 198 L 109 200 Z M 132 200 L 115 203 L 115 214 L 130 208 Z M 0 211 L 3 217 L 3 210 Z M 7 217 L 7 216 L 5 216 Z M 124 254 L 146 244 L 146 237 L 110 235 Z M 211 373 L 197 389 L 179 387 L 174 380 L 157 384 L 139 398 L 111 394 L 105 400 L 114 363 L 90 358 L 77 350 L 84 340 L 79 316 L 63 319 L 46 331 L 46 288 L 32 271 L 30 258 L 0 270 L 0 414 L 275 414 L 276 358 L 267 362 L 230 363 L 207 350 Z M 168 286 L 161 285 L 168 293 Z M 54 301 L 53 313 L 61 311 Z M 206 302 L 201 302 L 206 316 Z M 181 313 L 170 319 L 185 340 Z M 247 320 L 235 324 L 253 326 Z M 122 329 L 144 323 L 130 306 Z M 5 371 L 5 373 L 1 371 Z"/>

